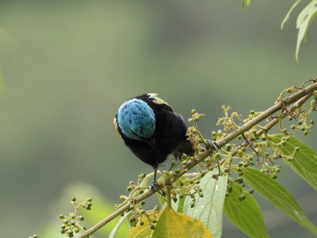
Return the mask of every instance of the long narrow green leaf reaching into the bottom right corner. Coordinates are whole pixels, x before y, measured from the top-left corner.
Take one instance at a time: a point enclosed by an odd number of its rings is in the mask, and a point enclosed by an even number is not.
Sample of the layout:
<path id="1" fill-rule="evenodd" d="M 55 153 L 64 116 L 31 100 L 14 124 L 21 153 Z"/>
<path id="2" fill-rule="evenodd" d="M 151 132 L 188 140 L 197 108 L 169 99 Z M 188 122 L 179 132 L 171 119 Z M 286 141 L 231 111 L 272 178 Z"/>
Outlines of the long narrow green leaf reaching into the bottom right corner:
<path id="1" fill-rule="evenodd" d="M 245 168 L 243 179 L 275 207 L 302 227 L 317 235 L 317 227 L 308 220 L 294 197 L 279 182 L 254 168 Z"/>

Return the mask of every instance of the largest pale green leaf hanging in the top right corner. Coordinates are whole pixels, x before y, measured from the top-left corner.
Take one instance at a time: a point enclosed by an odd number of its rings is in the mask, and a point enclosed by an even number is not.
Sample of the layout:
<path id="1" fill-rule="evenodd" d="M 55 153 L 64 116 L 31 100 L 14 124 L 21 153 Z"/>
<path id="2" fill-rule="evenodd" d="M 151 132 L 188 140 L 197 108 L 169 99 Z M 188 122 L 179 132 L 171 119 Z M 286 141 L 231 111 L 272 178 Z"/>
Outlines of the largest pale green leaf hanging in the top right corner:
<path id="1" fill-rule="evenodd" d="M 317 15 L 317 6 L 316 5 L 317 5 L 317 0 L 313 0 L 298 15 L 297 22 L 296 22 L 296 28 L 299 28 L 299 31 L 298 31 L 298 36 L 297 36 L 296 53 L 295 53 L 295 57 L 296 57 L 297 62 L 298 62 L 298 51 L 299 51 L 299 47 L 301 45 L 301 41 L 302 41 L 302 39 L 304 39 L 307 42 L 306 35 L 307 35 L 308 27 Z"/>

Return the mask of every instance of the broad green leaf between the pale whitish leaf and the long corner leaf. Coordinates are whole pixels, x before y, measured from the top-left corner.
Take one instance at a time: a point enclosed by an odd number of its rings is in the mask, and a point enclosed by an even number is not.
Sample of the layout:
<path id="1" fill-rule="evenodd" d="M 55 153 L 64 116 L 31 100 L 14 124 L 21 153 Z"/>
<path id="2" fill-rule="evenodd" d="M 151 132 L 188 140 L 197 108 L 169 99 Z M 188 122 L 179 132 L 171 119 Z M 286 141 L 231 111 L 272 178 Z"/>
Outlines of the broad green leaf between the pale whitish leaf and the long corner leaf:
<path id="1" fill-rule="evenodd" d="M 240 189 L 246 197 L 241 202 L 238 198 Z M 230 196 L 224 199 L 223 213 L 248 236 L 270 237 L 264 224 L 261 208 L 241 184 L 232 185 Z"/>

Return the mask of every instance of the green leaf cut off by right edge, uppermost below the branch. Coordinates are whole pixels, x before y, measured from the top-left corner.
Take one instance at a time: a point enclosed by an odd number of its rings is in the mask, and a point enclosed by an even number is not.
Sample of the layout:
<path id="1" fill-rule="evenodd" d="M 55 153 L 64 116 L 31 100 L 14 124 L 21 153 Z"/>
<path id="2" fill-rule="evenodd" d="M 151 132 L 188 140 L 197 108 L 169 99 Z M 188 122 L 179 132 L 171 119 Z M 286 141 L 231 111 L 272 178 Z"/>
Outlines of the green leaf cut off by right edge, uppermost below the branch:
<path id="1" fill-rule="evenodd" d="M 271 135 L 270 139 L 274 143 L 279 143 L 283 135 Z M 290 136 L 288 142 L 283 146 L 278 146 L 283 155 L 292 155 L 294 149 L 299 147 L 294 155 L 294 161 L 286 161 L 287 164 L 300 175 L 310 186 L 317 190 L 317 153 L 305 145 L 294 136 Z"/>

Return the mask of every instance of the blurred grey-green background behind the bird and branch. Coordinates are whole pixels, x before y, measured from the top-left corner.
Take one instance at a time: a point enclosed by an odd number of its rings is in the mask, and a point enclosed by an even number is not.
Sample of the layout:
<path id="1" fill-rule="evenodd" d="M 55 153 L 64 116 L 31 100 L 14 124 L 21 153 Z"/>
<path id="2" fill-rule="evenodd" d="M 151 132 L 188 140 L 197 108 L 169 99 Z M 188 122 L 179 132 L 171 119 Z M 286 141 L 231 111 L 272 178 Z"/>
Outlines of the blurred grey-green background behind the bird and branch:
<path id="1" fill-rule="evenodd" d="M 280 29 L 293 2 L 251 1 L 243 12 L 241 1 L 1 1 L 1 236 L 64 237 L 58 215 L 73 211 L 72 196 L 94 198 L 82 213 L 90 227 L 152 172 L 113 126 L 130 97 L 158 93 L 185 119 L 205 113 L 198 126 L 210 138 L 223 104 L 245 118 L 315 78 L 317 20 L 295 61 L 296 17 L 309 1 Z M 295 136 L 316 150 L 313 133 Z M 317 192 L 278 163 L 277 180 L 317 224 Z M 255 197 L 271 237 L 312 237 Z M 224 216 L 223 237 L 246 235 Z"/>

